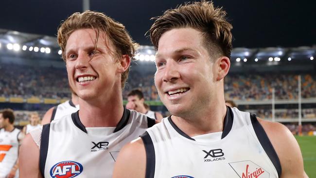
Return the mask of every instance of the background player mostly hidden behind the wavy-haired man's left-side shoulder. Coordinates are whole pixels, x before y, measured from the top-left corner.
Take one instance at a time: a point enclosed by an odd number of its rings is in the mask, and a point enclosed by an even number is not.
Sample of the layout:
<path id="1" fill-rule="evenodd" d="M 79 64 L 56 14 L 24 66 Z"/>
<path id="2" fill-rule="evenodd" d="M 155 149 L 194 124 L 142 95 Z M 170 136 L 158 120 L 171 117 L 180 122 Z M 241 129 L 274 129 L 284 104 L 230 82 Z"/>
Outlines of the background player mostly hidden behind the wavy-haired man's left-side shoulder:
<path id="1" fill-rule="evenodd" d="M 42 125 L 51 123 L 65 115 L 77 112 L 79 110 L 78 95 L 70 88 L 71 99 L 47 110 L 42 119 Z"/>

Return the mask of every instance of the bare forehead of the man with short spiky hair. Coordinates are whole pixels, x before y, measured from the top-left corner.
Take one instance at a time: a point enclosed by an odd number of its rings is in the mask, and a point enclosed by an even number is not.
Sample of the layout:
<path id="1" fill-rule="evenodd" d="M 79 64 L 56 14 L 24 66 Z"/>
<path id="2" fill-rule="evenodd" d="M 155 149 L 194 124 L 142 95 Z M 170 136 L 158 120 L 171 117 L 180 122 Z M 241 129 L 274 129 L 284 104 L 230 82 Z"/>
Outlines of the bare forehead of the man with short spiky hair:
<path id="1" fill-rule="evenodd" d="M 158 42 L 158 54 L 192 50 L 207 52 L 203 45 L 202 33 L 193 28 L 177 28 L 165 32 Z"/>

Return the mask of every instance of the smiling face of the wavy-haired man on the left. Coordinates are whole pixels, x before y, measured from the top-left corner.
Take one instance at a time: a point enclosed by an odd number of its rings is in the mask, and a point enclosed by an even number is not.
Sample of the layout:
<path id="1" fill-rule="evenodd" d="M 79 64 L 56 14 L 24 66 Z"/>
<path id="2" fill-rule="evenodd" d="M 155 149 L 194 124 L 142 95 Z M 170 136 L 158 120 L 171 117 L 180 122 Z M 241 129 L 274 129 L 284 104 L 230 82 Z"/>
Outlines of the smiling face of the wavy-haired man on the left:
<path id="1" fill-rule="evenodd" d="M 119 63 L 114 47 L 105 32 L 93 29 L 75 30 L 65 49 L 66 68 L 70 87 L 83 100 L 105 99 L 121 89 Z M 106 41 L 106 42 L 105 42 Z"/>

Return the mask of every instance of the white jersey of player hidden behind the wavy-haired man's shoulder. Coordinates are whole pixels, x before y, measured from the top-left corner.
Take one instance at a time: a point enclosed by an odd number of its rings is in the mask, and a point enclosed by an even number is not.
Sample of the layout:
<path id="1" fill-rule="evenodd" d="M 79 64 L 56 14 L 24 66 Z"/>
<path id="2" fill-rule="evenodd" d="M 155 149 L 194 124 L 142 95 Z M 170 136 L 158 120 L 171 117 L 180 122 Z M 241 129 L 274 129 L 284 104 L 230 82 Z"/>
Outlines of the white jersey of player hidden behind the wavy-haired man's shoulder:
<path id="1" fill-rule="evenodd" d="M 51 122 L 56 119 L 60 119 L 63 116 L 70 115 L 71 113 L 77 112 L 79 105 L 74 105 L 71 100 L 65 101 L 54 107 Z"/>

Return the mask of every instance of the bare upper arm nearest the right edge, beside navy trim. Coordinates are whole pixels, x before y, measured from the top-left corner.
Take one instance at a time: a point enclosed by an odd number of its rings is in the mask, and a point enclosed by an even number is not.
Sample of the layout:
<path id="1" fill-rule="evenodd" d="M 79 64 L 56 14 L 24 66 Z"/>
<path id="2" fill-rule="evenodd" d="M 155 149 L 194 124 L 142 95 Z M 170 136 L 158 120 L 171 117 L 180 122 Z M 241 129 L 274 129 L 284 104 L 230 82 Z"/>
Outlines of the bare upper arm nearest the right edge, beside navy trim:
<path id="1" fill-rule="evenodd" d="M 281 163 L 281 178 L 306 178 L 298 142 L 288 128 L 280 123 L 258 119 Z"/>

